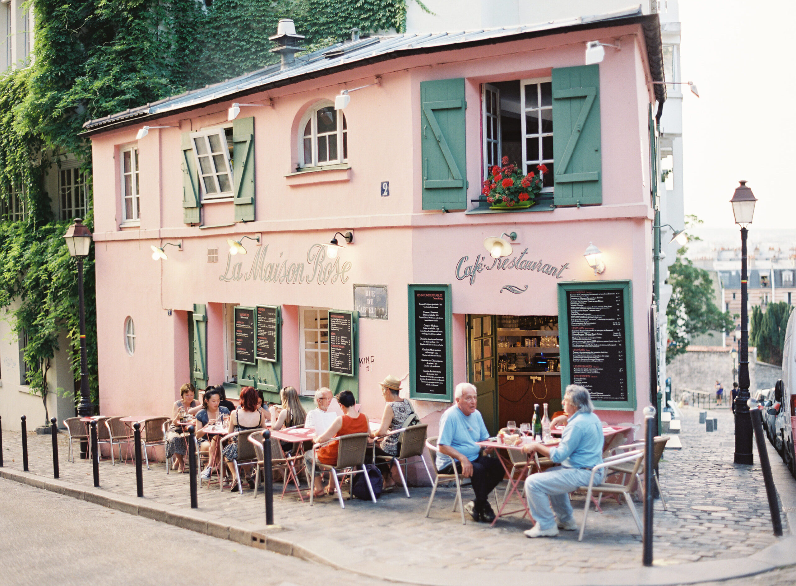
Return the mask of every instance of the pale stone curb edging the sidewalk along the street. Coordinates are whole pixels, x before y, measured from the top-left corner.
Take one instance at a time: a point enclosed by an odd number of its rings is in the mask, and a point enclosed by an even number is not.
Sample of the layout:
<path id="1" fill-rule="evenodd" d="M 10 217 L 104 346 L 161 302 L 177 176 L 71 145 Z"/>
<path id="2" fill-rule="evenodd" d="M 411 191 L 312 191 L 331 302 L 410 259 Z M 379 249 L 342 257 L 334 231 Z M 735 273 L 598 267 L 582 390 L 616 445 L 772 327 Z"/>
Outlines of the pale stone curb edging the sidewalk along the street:
<path id="1" fill-rule="evenodd" d="M 377 580 L 391 582 L 423 584 L 423 586 L 461 586 L 461 584 L 489 584 L 496 580 L 508 583 L 520 582 L 528 579 L 528 572 L 513 570 L 451 570 L 423 569 L 423 575 L 418 575 L 412 568 L 385 567 L 384 564 L 369 561 L 365 558 L 352 561 L 350 549 L 338 545 L 335 541 L 323 537 L 307 539 L 303 543 L 291 541 L 285 537 L 275 537 L 272 533 L 286 530 L 279 525 L 257 526 L 244 522 L 227 524 L 217 518 L 202 514 L 198 510 L 178 510 L 177 507 L 163 505 L 158 502 L 147 501 L 144 498 L 134 498 L 114 494 L 101 488 L 78 487 L 71 482 L 55 479 L 44 479 L 30 472 L 12 471 L 0 468 L 0 478 L 28 484 L 57 494 L 77 498 L 86 502 L 119 510 L 127 514 L 139 515 L 175 525 L 183 529 L 190 529 L 197 533 L 205 533 L 210 537 L 219 537 L 235 541 L 240 545 L 250 545 L 259 549 L 267 549 L 274 553 L 313 561 L 332 568 L 345 570 L 369 576 Z M 321 555 L 318 552 L 323 552 Z M 334 560 L 345 559 L 346 565 L 339 565 Z M 729 580 L 754 576 L 763 572 L 770 572 L 775 568 L 796 565 L 796 537 L 783 537 L 774 545 L 754 553 L 753 555 L 736 559 L 732 564 L 726 560 L 700 561 L 690 564 L 677 564 L 654 566 L 652 568 L 638 567 L 624 570 L 603 570 L 588 574 L 571 572 L 534 572 L 535 580 L 541 580 L 546 586 L 636 586 L 646 584 L 649 586 L 670 586 L 672 584 L 698 584 L 700 582 Z M 740 562 L 740 563 L 739 563 Z"/>

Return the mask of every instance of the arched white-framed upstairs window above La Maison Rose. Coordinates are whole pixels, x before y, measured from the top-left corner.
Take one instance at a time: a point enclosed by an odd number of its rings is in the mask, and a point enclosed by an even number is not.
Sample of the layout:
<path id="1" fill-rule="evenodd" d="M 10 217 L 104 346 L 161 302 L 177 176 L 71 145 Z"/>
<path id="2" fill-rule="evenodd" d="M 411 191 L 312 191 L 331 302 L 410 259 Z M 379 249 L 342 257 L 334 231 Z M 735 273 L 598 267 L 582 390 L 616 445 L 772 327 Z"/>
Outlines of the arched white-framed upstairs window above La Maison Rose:
<path id="1" fill-rule="evenodd" d="M 334 165 L 348 159 L 348 127 L 342 110 L 330 102 L 317 104 L 303 119 L 298 137 L 298 165 Z"/>

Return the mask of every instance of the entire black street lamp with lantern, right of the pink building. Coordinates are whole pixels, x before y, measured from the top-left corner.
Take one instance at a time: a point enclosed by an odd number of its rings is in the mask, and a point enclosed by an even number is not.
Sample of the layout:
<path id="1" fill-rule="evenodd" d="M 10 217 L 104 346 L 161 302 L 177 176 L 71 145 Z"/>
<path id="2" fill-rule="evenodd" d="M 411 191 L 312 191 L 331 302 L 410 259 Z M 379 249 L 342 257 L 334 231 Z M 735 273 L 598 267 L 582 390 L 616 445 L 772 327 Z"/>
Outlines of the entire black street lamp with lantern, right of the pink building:
<path id="1" fill-rule="evenodd" d="M 752 464 L 752 427 L 749 415 L 749 316 L 747 313 L 747 226 L 755 215 L 757 198 L 751 193 L 745 181 L 740 182 L 733 193 L 732 213 L 736 224 L 741 227 L 741 339 L 738 345 L 738 397 L 736 397 L 736 464 Z"/>

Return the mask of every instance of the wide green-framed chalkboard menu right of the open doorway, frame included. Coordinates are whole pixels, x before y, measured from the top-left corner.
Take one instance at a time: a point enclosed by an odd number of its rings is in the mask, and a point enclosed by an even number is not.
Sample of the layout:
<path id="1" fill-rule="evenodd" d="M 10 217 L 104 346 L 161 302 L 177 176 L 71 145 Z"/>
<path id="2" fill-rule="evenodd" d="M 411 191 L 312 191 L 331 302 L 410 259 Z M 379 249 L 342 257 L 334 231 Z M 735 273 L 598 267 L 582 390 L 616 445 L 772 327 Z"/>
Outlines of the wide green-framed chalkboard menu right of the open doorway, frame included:
<path id="1" fill-rule="evenodd" d="M 561 283 L 560 287 L 565 290 L 568 330 L 560 338 L 566 337 L 562 370 L 568 375 L 562 377 L 562 385 L 582 385 L 598 406 L 634 405 L 630 283 Z"/>

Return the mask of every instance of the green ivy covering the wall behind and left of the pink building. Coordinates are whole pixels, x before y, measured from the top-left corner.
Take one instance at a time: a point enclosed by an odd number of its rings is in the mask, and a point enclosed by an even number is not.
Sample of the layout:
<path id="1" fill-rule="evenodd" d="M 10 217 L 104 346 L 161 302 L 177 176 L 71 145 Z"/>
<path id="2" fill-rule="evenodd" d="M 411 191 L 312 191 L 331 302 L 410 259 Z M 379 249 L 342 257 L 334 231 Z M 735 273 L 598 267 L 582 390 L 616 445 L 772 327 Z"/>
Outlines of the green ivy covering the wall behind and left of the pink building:
<path id="1" fill-rule="evenodd" d="M 44 178 L 64 153 L 90 176 L 84 122 L 275 63 L 268 37 L 279 18 L 293 18 L 314 49 L 352 28 L 403 32 L 407 1 L 416 0 L 33 0 L 33 64 L 0 77 L 0 199 L 8 205 L 12 186 L 22 187 L 27 213 L 0 225 L 0 307 L 19 302 L 14 330 L 28 334 L 25 362 L 43 369 L 65 329 L 80 373 L 76 268 L 62 238 L 69 222 L 53 217 Z M 92 228 L 90 195 L 84 221 Z M 93 256 L 84 270 L 96 403 Z M 32 379 L 31 389 L 41 384 Z"/>

